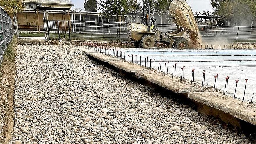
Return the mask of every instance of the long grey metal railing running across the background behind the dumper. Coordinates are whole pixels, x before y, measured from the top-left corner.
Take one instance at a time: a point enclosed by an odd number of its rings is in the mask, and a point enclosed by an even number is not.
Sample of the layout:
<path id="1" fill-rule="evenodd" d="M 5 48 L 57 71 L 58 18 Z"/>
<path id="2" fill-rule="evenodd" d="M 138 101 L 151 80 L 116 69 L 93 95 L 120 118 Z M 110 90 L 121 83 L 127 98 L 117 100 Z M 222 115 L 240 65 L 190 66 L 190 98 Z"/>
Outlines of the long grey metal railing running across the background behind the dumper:
<path id="1" fill-rule="evenodd" d="M 72 37 L 125 39 L 127 38 L 127 24 L 71 21 Z M 157 27 L 162 33 L 177 30 L 175 24 L 157 24 Z M 203 40 L 256 41 L 256 27 L 199 25 L 198 28 Z"/>

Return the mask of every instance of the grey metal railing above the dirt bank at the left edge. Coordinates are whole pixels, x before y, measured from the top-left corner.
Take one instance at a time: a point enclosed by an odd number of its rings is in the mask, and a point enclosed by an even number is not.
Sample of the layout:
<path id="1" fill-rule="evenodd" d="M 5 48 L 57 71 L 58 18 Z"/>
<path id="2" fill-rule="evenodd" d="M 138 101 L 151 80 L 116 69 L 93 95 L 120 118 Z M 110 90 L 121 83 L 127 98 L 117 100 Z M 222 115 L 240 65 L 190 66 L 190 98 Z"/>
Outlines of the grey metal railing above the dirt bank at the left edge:
<path id="1" fill-rule="evenodd" d="M 13 34 L 12 18 L 0 7 L 0 63 Z"/>

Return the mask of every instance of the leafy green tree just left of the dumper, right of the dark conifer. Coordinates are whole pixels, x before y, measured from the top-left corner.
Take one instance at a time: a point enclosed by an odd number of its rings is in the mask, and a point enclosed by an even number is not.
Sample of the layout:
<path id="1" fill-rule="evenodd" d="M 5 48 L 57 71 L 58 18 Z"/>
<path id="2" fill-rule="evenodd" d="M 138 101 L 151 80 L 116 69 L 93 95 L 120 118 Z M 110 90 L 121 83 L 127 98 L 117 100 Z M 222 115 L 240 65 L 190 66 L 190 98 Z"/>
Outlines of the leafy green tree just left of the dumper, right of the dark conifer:
<path id="1" fill-rule="evenodd" d="M 99 9 L 102 10 L 102 15 L 109 18 L 110 16 L 116 16 L 118 21 L 118 15 L 125 15 L 127 9 L 125 8 L 126 0 L 99 0 Z"/>

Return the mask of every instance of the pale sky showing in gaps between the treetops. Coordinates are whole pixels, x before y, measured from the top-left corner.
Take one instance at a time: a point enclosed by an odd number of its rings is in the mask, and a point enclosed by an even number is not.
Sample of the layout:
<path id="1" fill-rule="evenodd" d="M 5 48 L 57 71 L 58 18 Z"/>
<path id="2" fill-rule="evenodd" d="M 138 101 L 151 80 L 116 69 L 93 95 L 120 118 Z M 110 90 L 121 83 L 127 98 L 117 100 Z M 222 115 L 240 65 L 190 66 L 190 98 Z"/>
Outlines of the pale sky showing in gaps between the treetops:
<path id="1" fill-rule="evenodd" d="M 211 6 L 211 0 L 188 0 L 189 6 L 192 8 L 193 12 L 203 12 L 203 11 L 213 11 Z M 138 0 L 139 3 L 143 4 L 142 0 Z M 84 0 L 71 0 L 72 9 L 83 9 Z"/>

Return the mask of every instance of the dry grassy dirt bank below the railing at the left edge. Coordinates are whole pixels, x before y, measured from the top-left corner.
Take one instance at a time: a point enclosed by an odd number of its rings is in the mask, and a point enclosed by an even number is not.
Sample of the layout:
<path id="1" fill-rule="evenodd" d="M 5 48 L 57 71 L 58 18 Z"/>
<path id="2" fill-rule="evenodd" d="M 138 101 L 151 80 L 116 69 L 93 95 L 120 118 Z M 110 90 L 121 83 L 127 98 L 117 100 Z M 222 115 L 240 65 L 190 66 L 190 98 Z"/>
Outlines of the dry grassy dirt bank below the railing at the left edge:
<path id="1" fill-rule="evenodd" d="M 12 138 L 16 46 L 17 39 L 13 38 L 4 53 L 3 62 L 0 65 L 0 144 L 7 144 Z"/>

